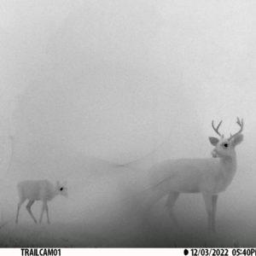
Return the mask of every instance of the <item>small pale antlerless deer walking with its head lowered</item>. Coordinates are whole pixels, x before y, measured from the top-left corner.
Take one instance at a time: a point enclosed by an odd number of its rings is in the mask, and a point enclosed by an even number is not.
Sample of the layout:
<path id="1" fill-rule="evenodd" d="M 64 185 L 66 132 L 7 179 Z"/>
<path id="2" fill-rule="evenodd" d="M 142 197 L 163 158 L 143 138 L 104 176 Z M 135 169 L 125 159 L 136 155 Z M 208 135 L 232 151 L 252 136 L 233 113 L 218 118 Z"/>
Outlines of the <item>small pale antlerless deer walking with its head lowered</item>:
<path id="1" fill-rule="evenodd" d="M 17 184 L 20 201 L 18 203 L 16 224 L 18 224 L 20 207 L 26 199 L 28 203 L 26 205 L 27 212 L 32 217 L 34 223 L 37 223 L 37 219 L 34 217 L 31 207 L 35 201 L 43 201 L 42 212 L 39 222 L 42 222 L 44 211 L 46 211 L 47 222 L 49 224 L 49 212 L 47 201 L 52 200 L 55 195 L 64 195 L 67 197 L 67 182 L 57 182 L 55 185 L 48 180 L 25 180 Z"/>

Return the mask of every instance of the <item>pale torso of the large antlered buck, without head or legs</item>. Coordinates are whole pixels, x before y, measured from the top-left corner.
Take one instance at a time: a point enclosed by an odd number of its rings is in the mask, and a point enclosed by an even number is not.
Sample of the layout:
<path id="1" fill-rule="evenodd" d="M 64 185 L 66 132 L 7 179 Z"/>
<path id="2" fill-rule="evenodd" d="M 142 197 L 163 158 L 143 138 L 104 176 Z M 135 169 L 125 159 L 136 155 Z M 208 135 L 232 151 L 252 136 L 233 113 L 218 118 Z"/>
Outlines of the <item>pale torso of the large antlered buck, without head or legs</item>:
<path id="1" fill-rule="evenodd" d="M 149 171 L 151 185 L 166 192 L 218 194 L 231 183 L 236 159 L 166 160 Z"/>

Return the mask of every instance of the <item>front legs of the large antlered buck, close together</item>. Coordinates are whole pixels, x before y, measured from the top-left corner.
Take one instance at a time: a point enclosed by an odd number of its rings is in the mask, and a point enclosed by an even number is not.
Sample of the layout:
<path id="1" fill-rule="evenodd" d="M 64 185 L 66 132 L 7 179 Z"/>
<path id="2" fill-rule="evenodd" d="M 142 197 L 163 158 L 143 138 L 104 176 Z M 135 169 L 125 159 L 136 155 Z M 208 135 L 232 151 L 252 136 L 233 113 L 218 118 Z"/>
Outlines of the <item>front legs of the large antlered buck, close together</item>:
<path id="1" fill-rule="evenodd" d="M 214 232 L 218 195 L 203 194 L 203 198 L 207 208 L 208 230 Z"/>

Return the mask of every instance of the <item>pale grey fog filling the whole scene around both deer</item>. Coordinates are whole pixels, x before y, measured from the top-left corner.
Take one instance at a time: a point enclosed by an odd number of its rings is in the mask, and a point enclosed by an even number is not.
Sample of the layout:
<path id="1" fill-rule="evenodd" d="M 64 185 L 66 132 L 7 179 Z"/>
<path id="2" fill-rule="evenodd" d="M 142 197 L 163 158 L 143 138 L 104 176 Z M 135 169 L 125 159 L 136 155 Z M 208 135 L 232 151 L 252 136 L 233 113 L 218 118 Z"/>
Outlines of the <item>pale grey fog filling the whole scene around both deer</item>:
<path id="1" fill-rule="evenodd" d="M 0 246 L 254 247 L 255 10 L 236 0 L 1 0 Z M 211 157 L 212 119 L 229 136 L 237 116 L 244 141 L 217 233 L 207 236 L 196 194 L 175 206 L 183 232 L 164 201 L 145 226 L 148 168 Z M 25 204 L 15 225 L 16 183 L 45 178 L 67 180 L 67 199 L 49 202 L 50 225 L 34 225 Z"/>

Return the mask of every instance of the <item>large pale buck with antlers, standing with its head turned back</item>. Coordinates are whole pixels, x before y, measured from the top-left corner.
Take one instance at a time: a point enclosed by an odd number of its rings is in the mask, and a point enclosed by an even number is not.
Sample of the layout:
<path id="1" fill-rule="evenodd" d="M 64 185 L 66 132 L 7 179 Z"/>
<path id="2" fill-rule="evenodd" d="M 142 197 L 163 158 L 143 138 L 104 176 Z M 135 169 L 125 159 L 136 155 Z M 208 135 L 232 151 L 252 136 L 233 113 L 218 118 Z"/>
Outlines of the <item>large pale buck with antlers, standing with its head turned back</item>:
<path id="1" fill-rule="evenodd" d="M 207 159 L 179 159 L 166 160 L 150 168 L 149 175 L 153 187 L 145 201 L 146 209 L 152 207 L 156 201 L 167 196 L 166 209 L 172 221 L 177 220 L 172 207 L 180 193 L 201 193 L 207 209 L 208 230 L 215 231 L 215 216 L 218 194 L 223 192 L 231 183 L 236 173 L 236 145 L 241 143 L 243 136 L 243 120 L 237 118 L 240 130 L 229 138 L 224 138 L 218 128 L 212 128 L 220 138 L 209 137 L 210 143 L 215 147 L 212 150 L 213 158 Z M 156 185 L 155 185 L 156 184 Z M 178 224 L 177 224 L 178 225 Z"/>

